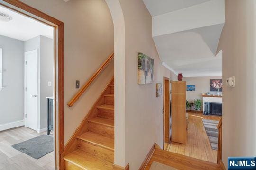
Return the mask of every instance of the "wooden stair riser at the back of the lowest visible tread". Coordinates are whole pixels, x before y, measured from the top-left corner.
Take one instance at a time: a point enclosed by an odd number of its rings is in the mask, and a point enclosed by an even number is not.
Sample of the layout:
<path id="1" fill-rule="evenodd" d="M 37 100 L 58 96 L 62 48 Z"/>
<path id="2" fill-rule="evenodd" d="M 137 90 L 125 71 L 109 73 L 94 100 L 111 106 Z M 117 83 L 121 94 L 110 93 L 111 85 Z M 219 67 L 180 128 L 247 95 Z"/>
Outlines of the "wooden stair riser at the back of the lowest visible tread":
<path id="1" fill-rule="evenodd" d="M 97 158 L 114 163 L 114 151 L 110 151 L 109 149 L 105 149 L 101 146 L 91 144 L 82 140 L 78 140 L 78 147 L 82 151 L 94 155 Z"/>

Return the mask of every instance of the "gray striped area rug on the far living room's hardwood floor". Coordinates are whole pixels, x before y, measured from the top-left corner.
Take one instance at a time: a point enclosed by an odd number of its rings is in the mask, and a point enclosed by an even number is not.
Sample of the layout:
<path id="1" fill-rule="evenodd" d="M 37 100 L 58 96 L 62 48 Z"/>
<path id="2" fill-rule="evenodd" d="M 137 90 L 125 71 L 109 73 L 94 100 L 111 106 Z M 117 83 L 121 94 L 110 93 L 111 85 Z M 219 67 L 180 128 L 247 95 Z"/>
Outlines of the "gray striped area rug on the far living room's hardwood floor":
<path id="1" fill-rule="evenodd" d="M 217 129 L 217 125 L 219 124 L 219 121 L 207 120 L 207 119 L 202 119 L 202 121 L 203 121 L 206 134 L 209 138 L 211 148 L 214 150 L 217 150 L 218 136 L 219 136 L 219 130 Z"/>

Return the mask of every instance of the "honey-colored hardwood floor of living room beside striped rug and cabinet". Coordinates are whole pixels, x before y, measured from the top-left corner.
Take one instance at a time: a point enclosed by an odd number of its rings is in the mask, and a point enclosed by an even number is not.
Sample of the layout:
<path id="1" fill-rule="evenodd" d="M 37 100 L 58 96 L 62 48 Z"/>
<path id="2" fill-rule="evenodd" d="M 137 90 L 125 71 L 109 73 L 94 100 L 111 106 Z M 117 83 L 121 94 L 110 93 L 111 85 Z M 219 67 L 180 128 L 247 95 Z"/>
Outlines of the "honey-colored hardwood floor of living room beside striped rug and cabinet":
<path id="1" fill-rule="evenodd" d="M 220 120 L 219 116 L 204 116 L 202 113 L 189 112 L 187 144 L 165 143 L 165 150 L 203 161 L 217 162 L 217 151 L 211 149 L 202 119 Z"/>

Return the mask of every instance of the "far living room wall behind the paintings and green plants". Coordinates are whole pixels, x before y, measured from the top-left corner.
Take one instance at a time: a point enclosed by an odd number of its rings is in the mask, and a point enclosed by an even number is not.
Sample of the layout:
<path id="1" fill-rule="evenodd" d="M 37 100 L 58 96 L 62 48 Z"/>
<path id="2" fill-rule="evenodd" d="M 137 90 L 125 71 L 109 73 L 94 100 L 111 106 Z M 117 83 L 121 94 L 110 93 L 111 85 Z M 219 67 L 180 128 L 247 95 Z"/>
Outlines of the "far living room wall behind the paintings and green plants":
<path id="1" fill-rule="evenodd" d="M 202 100 L 202 93 L 210 92 L 210 79 L 222 79 L 222 77 L 183 77 L 183 81 L 186 81 L 187 85 L 195 85 L 196 87 L 195 91 L 187 91 L 187 100 Z M 217 92 L 210 92 L 210 94 L 216 95 Z"/>

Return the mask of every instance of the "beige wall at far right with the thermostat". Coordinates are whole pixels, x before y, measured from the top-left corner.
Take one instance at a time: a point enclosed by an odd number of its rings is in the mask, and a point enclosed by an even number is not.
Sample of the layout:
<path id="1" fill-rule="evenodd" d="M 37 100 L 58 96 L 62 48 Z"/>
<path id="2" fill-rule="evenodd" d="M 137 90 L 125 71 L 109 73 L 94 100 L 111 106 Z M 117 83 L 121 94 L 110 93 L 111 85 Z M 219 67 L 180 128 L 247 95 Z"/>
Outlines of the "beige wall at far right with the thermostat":
<path id="1" fill-rule="evenodd" d="M 235 88 L 223 88 L 222 159 L 256 155 L 255 0 L 226 0 L 226 23 L 220 37 L 223 79 L 235 76 Z"/>

